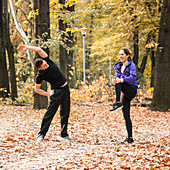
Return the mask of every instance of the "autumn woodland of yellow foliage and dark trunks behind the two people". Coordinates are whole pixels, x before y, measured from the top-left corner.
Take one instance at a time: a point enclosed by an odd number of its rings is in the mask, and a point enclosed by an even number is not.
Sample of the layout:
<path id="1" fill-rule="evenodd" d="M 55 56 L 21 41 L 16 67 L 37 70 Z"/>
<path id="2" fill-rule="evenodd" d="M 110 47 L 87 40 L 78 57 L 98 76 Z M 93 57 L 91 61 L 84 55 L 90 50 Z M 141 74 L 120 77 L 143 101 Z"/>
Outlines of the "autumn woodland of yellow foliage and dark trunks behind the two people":
<path id="1" fill-rule="evenodd" d="M 110 87 L 114 76 L 112 66 L 119 61 L 119 50 L 129 48 L 137 67 L 139 94 L 147 96 L 155 90 L 153 108 L 167 111 L 169 79 L 164 76 L 169 72 L 167 4 L 167 0 L 1 1 L 2 100 L 7 100 L 6 103 L 34 103 L 35 109 L 46 108 L 48 104 L 47 97 L 33 92 L 37 73 L 33 60 L 38 56 L 29 51 L 18 51 L 20 44 L 43 48 L 66 75 L 73 96 L 80 88 L 86 91 L 86 100 L 100 101 L 102 98 L 101 101 L 106 102 L 110 101 L 114 88 Z M 88 28 L 85 36 L 87 86 L 83 86 L 82 27 Z M 44 82 L 42 89 L 47 88 Z M 100 97 L 97 97 L 98 93 Z"/>

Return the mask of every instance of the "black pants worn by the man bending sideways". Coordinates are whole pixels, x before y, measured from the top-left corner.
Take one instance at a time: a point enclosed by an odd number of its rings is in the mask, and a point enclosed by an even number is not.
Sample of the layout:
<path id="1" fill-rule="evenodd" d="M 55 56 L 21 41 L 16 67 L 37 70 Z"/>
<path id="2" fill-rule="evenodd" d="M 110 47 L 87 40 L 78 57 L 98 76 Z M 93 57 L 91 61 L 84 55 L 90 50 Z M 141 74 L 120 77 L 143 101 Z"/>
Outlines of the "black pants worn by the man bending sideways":
<path id="1" fill-rule="evenodd" d="M 39 134 L 46 135 L 51 121 L 60 106 L 60 120 L 61 120 L 61 137 L 68 136 L 67 126 L 70 114 L 70 91 L 68 85 L 54 89 L 54 95 L 50 97 L 50 103 L 45 113 Z"/>

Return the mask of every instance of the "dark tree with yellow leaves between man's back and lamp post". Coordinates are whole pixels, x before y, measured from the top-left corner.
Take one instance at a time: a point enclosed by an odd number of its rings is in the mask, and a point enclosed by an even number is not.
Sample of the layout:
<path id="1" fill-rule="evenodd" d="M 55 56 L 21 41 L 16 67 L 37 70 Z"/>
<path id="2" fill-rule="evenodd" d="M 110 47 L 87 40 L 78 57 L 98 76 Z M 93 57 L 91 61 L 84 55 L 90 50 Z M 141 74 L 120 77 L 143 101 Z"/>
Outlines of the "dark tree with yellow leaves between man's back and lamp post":
<path id="1" fill-rule="evenodd" d="M 59 3 L 62 4 L 60 8 L 63 16 L 67 16 L 70 22 L 68 23 L 64 17 L 59 19 L 59 31 L 61 34 L 61 41 L 59 48 L 59 63 L 60 69 L 67 77 L 70 86 L 74 85 L 73 82 L 73 39 L 74 34 L 72 32 L 72 24 L 74 21 L 71 20 L 71 14 L 74 12 L 74 2 L 67 5 L 65 0 L 59 0 Z"/>

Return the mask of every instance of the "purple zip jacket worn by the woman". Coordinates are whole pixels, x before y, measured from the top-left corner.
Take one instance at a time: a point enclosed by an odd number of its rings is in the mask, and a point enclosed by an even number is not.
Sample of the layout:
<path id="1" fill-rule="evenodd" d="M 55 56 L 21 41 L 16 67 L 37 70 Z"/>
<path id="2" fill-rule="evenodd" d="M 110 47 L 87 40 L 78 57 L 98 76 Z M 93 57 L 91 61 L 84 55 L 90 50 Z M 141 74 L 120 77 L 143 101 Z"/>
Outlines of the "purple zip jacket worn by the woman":
<path id="1" fill-rule="evenodd" d="M 121 73 L 120 69 L 121 69 L 122 65 L 123 65 L 123 63 L 119 62 L 113 66 L 113 68 L 116 71 L 115 76 L 118 78 L 122 78 L 123 82 L 125 82 L 125 83 L 129 83 L 131 85 L 138 87 L 138 83 L 136 81 L 136 66 L 135 66 L 135 64 L 132 61 L 129 61 L 125 67 L 124 72 Z"/>

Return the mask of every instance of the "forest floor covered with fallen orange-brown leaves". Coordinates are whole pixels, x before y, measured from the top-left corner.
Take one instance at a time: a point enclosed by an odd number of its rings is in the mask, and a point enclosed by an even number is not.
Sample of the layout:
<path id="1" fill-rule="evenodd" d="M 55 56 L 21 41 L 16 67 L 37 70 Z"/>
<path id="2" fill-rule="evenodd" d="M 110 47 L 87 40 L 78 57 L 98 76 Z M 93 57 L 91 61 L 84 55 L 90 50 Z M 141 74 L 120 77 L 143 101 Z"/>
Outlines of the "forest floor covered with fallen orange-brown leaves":
<path id="1" fill-rule="evenodd" d="M 134 143 L 126 138 L 121 110 L 110 104 L 72 104 L 68 132 L 60 140 L 57 112 L 43 143 L 36 143 L 45 110 L 0 106 L 0 169 L 169 169 L 170 112 L 132 106 Z"/>

